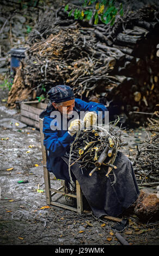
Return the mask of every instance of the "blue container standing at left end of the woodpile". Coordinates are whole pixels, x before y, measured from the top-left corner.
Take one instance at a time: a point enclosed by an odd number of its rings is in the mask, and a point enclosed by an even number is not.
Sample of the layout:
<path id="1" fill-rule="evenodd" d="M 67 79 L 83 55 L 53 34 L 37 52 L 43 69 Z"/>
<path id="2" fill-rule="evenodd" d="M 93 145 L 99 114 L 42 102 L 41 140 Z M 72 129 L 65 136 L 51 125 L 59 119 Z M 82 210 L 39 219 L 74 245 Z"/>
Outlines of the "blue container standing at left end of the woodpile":
<path id="1" fill-rule="evenodd" d="M 12 48 L 10 50 L 11 60 L 10 60 L 10 74 L 12 77 L 15 75 L 13 68 L 17 68 L 20 65 L 20 60 L 25 58 L 26 48 Z"/>

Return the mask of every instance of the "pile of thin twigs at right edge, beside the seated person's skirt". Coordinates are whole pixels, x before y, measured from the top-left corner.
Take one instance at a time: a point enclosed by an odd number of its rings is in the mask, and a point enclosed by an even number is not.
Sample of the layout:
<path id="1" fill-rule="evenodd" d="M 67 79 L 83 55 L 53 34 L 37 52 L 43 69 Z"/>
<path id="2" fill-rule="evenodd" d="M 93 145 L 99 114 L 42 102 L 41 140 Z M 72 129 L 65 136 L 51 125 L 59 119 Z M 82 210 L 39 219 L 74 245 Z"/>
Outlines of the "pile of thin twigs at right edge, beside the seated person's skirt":
<path id="1" fill-rule="evenodd" d="M 148 140 L 137 145 L 137 154 L 134 159 L 134 172 L 139 187 L 156 188 L 159 185 L 159 120 L 148 118 L 149 124 L 146 130 L 152 132 Z"/>

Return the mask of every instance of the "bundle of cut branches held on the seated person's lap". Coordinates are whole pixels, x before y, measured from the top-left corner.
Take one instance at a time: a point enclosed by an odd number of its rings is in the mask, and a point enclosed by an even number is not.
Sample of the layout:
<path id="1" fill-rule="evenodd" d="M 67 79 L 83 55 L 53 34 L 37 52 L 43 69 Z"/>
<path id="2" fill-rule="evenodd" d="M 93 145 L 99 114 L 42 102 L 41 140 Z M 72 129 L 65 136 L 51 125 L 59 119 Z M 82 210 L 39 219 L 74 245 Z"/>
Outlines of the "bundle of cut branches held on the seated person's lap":
<path id="1" fill-rule="evenodd" d="M 113 169 L 117 169 L 114 161 L 119 148 L 125 145 L 121 130 L 115 127 L 118 121 L 110 125 L 109 130 L 105 126 L 93 126 L 79 131 L 70 150 L 69 166 L 79 163 L 82 172 L 90 170 L 89 176 L 95 171 L 100 172 L 102 166 L 108 167 L 105 168 L 107 177 Z"/>

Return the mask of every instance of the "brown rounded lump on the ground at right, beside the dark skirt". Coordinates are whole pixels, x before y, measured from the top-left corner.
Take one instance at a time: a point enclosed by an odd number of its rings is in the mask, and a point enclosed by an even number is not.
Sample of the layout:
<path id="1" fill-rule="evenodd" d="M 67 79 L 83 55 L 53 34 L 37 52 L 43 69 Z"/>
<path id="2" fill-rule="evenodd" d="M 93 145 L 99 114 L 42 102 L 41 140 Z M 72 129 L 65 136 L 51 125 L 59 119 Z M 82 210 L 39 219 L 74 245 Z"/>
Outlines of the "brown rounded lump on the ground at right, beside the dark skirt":
<path id="1" fill-rule="evenodd" d="M 150 188 L 144 188 L 134 206 L 134 214 L 142 222 L 159 221 L 159 198 Z"/>

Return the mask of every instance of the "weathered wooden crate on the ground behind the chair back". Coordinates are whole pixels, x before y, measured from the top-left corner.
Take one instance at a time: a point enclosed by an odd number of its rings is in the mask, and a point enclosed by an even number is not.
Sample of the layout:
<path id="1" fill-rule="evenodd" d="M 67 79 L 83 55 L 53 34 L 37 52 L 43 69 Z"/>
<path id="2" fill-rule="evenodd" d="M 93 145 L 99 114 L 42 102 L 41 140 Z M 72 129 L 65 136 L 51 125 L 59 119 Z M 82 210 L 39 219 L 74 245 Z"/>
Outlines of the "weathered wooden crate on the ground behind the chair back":
<path id="1" fill-rule="evenodd" d="M 46 103 L 24 101 L 21 103 L 21 121 L 29 126 L 40 129 L 39 114 L 47 107 Z"/>

